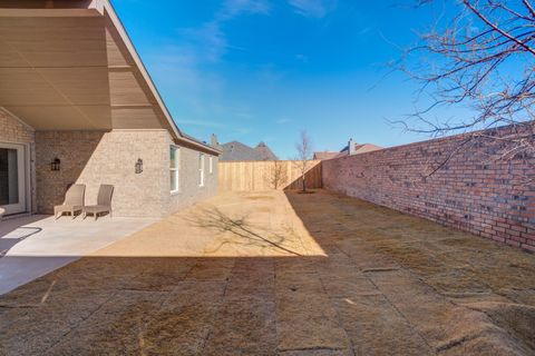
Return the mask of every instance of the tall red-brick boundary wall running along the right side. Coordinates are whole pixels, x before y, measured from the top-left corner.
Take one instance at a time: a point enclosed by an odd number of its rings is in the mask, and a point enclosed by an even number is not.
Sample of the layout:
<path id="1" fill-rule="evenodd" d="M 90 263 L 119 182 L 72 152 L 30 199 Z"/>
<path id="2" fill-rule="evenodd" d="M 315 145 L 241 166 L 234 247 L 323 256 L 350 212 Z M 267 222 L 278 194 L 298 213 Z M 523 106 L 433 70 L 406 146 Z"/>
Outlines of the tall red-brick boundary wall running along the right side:
<path id="1" fill-rule="evenodd" d="M 495 137 L 506 137 L 510 130 L 506 127 L 481 131 L 473 139 L 459 135 L 324 160 L 323 186 L 535 251 L 535 158 L 494 159 L 505 151 Z M 524 137 L 532 144 L 535 140 L 533 131 Z"/>

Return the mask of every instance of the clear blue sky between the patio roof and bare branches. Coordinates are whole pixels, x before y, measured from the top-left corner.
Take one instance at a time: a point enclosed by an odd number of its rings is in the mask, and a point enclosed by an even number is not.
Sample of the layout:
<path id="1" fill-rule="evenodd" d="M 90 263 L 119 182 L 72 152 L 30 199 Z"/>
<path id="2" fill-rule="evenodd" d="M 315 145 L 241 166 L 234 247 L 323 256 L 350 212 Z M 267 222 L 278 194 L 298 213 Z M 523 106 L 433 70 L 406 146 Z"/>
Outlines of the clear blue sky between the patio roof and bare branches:
<path id="1" fill-rule="evenodd" d="M 401 73 L 381 78 L 399 59 L 398 46 L 414 44 L 415 31 L 440 11 L 402 1 L 114 6 L 183 130 L 204 140 L 215 132 L 221 142 L 265 141 L 291 158 L 303 129 L 315 150 L 341 149 L 350 137 L 385 147 L 427 139 L 388 121 L 414 111 L 417 85 Z"/>

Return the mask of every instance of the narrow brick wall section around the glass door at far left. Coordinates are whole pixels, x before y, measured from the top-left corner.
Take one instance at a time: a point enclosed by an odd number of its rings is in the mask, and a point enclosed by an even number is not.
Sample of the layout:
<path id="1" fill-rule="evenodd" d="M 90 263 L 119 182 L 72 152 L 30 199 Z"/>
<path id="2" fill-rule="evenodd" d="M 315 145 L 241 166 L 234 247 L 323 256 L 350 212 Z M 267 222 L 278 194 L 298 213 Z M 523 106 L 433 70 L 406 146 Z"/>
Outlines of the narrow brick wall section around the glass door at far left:
<path id="1" fill-rule="evenodd" d="M 30 197 L 28 202 L 31 206 L 31 211 L 36 211 L 36 149 L 33 129 L 0 109 L 0 142 L 26 145 L 26 155 L 29 155 L 30 158 L 30 171 L 29 177 L 27 177 L 30 186 Z"/>

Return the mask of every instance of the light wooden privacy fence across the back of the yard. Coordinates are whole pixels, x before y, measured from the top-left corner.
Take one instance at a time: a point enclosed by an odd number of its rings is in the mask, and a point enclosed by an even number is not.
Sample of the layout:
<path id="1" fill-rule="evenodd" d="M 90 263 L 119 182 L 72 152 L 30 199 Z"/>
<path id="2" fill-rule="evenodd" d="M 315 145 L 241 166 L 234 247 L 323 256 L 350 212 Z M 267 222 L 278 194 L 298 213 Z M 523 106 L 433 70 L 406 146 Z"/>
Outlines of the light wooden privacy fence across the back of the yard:
<path id="1" fill-rule="evenodd" d="M 232 161 L 220 162 L 221 191 L 265 191 L 301 189 L 299 161 Z M 307 171 L 307 188 L 321 188 L 321 161 L 311 160 Z"/>

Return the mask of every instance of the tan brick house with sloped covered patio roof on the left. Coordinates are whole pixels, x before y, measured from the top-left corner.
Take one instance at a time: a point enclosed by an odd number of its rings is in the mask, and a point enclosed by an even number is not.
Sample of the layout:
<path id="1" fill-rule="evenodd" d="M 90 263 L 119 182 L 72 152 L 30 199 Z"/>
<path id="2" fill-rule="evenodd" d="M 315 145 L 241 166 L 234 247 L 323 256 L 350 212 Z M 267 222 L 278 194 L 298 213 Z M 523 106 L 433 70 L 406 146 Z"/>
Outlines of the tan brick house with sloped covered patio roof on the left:
<path id="1" fill-rule="evenodd" d="M 221 151 L 174 122 L 108 0 L 0 2 L 0 206 L 50 214 L 71 184 L 114 216 L 216 194 Z"/>

